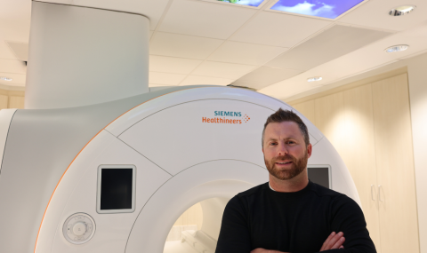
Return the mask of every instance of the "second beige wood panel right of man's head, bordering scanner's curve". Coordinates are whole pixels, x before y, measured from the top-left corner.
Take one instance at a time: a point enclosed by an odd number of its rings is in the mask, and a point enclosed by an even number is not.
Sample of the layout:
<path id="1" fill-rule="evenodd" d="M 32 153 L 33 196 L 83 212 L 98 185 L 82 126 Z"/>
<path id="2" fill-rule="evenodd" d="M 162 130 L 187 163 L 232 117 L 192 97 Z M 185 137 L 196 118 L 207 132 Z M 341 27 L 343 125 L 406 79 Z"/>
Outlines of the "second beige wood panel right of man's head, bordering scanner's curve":
<path id="1" fill-rule="evenodd" d="M 340 155 L 346 150 L 347 130 L 344 117 L 344 93 L 315 99 L 315 122 Z"/>

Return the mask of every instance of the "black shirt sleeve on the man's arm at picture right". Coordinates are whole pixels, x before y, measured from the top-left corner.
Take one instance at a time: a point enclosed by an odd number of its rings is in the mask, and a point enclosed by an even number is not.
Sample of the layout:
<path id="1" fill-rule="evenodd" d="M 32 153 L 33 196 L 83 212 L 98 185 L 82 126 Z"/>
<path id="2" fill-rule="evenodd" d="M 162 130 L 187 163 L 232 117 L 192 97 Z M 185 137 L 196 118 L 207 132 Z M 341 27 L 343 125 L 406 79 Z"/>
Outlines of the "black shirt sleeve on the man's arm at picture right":
<path id="1" fill-rule="evenodd" d="M 369 237 L 367 222 L 359 204 L 346 195 L 334 200 L 332 205 L 332 231 L 344 233 L 344 249 L 329 249 L 324 253 L 376 253 Z"/>

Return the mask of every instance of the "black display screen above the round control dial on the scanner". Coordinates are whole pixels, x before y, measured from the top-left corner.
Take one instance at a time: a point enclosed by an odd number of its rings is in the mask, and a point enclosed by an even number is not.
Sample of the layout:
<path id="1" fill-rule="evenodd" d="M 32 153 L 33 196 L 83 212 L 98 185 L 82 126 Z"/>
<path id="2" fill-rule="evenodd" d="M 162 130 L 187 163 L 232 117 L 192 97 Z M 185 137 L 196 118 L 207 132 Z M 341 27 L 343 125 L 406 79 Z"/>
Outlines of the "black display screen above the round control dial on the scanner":
<path id="1" fill-rule="evenodd" d="M 132 209 L 133 169 L 101 169 L 101 210 Z"/>

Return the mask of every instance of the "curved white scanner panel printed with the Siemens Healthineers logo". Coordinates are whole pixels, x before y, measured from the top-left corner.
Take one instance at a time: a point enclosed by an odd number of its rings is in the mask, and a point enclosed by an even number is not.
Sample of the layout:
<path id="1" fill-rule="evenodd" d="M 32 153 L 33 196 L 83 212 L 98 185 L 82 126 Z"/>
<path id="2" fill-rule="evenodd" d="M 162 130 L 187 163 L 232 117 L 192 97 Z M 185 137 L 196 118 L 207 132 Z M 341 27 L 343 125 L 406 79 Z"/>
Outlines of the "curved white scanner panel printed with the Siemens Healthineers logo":
<path id="1" fill-rule="evenodd" d="M 215 116 L 215 112 L 220 115 Z M 241 116 L 221 116 L 220 112 Z M 150 115 L 118 138 L 172 175 L 218 159 L 264 167 L 261 133 L 272 113 L 265 107 L 236 100 L 191 101 Z M 219 119 L 223 123 L 210 122 Z"/>

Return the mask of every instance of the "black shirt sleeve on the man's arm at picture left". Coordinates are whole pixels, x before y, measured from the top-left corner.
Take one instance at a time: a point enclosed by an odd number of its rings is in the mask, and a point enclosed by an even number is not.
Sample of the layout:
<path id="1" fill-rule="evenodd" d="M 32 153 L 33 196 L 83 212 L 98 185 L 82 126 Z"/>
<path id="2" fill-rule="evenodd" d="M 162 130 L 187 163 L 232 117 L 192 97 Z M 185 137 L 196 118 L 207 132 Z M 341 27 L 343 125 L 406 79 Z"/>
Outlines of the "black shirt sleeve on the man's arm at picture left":
<path id="1" fill-rule="evenodd" d="M 222 215 L 220 236 L 215 253 L 249 252 L 251 252 L 251 236 L 247 212 L 238 196 L 235 196 L 227 203 Z"/>

